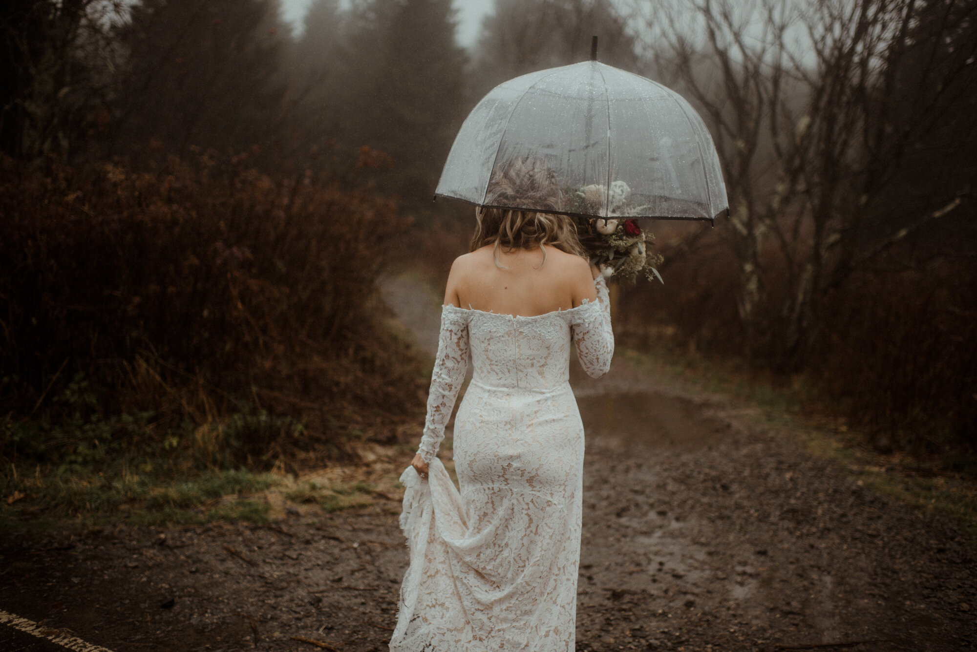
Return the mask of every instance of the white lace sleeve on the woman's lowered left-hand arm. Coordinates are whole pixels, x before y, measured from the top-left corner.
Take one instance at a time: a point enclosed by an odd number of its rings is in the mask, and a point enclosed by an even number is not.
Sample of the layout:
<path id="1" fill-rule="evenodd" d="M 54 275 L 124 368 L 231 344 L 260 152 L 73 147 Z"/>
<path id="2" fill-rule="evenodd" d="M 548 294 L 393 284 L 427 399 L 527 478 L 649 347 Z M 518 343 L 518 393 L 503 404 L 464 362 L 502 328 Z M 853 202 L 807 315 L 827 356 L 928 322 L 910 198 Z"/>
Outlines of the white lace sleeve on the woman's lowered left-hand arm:
<path id="1" fill-rule="evenodd" d="M 445 438 L 445 426 L 451 418 L 458 389 L 465 380 L 468 368 L 468 320 L 453 306 L 443 306 L 441 313 L 441 337 L 438 355 L 431 374 L 431 390 L 428 393 L 428 412 L 424 422 L 424 434 L 417 449 L 424 462 L 438 454 L 441 440 Z"/>

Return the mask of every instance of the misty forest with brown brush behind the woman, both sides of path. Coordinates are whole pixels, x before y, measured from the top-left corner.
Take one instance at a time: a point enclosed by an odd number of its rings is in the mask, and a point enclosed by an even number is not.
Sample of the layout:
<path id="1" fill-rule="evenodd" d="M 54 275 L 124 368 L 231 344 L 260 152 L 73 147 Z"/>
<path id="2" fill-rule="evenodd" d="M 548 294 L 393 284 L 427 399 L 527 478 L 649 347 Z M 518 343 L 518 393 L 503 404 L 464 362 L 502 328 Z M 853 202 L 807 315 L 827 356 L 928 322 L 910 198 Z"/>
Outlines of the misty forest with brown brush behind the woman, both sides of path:
<path id="1" fill-rule="evenodd" d="M 618 342 L 977 472 L 977 2 L 496 0 L 470 50 L 449 0 L 280 16 L 0 8 L 0 508 L 182 518 L 251 471 L 413 443 L 429 369 L 377 280 L 444 281 L 461 121 L 591 35 L 700 110 L 731 208 L 651 223 L 665 284 L 619 285 Z"/>

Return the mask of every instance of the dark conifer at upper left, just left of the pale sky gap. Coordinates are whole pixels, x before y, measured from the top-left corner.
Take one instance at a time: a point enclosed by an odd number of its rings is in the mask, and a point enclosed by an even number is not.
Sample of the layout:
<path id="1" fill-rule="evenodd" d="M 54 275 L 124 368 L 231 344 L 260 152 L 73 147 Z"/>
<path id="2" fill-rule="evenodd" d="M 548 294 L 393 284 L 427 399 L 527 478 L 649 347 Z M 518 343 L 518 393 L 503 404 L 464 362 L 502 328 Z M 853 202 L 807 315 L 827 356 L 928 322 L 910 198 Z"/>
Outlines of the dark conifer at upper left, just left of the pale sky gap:
<path id="1" fill-rule="evenodd" d="M 239 151 L 274 138 L 288 38 L 277 0 L 142 0 L 118 38 L 129 57 L 116 143 Z"/>

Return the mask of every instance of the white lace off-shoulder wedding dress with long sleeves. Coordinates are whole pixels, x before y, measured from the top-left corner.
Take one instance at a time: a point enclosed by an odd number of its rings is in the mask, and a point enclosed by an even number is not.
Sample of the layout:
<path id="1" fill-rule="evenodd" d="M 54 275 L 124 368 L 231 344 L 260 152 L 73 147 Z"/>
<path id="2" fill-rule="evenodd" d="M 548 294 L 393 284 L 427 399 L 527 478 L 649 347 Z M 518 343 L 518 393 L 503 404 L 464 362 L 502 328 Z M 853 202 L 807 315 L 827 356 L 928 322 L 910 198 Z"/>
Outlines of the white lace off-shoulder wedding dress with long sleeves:
<path id="1" fill-rule="evenodd" d="M 404 470 L 410 567 L 394 652 L 573 651 L 583 426 L 570 387 L 614 353 L 608 290 L 536 316 L 443 306 L 427 422 L 429 479 Z M 436 457 L 471 350 L 474 377 L 454 423 L 460 493 Z"/>

